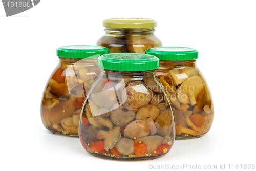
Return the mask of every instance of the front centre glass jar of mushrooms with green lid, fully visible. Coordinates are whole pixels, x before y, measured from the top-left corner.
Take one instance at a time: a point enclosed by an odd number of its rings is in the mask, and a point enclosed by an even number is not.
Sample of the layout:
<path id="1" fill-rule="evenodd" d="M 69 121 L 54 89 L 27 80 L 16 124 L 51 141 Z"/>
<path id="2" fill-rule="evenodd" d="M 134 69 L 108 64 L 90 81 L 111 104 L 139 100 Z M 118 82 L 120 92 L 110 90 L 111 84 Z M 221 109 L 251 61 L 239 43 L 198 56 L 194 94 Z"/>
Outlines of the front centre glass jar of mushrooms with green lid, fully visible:
<path id="1" fill-rule="evenodd" d="M 100 76 L 82 107 L 79 138 L 92 155 L 115 160 L 152 159 L 175 140 L 173 111 L 155 75 L 159 59 L 138 53 L 98 58 Z"/>

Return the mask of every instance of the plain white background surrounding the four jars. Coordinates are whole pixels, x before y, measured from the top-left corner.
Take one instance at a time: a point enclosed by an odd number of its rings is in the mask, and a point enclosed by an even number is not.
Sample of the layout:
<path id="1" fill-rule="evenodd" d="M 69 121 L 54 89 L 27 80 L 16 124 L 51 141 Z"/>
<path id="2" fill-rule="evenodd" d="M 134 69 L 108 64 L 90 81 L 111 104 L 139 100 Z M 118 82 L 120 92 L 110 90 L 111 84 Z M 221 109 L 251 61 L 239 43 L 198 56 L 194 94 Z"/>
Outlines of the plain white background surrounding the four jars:
<path id="1" fill-rule="evenodd" d="M 218 169 L 225 164 L 228 169 L 228 164 L 256 164 L 255 7 L 256 1 L 42 0 L 28 11 L 5 17 L 0 4 L 0 169 L 152 170 L 149 164 Z M 153 18 L 163 46 L 199 50 L 197 65 L 215 106 L 208 134 L 176 141 L 161 158 L 124 162 L 93 157 L 78 138 L 45 129 L 39 107 L 58 63 L 56 48 L 95 45 L 104 34 L 102 20 L 109 17 Z"/>

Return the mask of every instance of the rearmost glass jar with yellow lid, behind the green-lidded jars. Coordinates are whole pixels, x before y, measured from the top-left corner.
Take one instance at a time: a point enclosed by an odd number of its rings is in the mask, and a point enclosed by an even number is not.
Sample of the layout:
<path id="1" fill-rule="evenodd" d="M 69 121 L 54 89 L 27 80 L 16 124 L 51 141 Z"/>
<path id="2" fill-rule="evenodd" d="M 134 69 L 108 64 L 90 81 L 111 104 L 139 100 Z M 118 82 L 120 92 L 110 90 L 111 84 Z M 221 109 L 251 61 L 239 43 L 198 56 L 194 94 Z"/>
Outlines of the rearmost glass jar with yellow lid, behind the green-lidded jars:
<path id="1" fill-rule="evenodd" d="M 103 21 L 105 35 L 98 46 L 110 49 L 110 53 L 145 53 L 153 47 L 161 47 L 162 42 L 154 35 L 157 22 L 148 18 L 109 18 Z"/>

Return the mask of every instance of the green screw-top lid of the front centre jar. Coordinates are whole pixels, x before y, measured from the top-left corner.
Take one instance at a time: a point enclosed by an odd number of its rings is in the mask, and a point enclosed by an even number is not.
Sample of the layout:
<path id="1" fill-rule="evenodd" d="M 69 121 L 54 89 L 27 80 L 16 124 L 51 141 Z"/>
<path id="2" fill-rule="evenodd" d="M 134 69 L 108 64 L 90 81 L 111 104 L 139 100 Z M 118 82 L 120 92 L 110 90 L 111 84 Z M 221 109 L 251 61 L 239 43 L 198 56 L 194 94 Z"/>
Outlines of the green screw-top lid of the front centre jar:
<path id="1" fill-rule="evenodd" d="M 141 53 L 110 53 L 98 58 L 98 66 L 115 71 L 148 71 L 159 67 L 159 59 Z"/>

